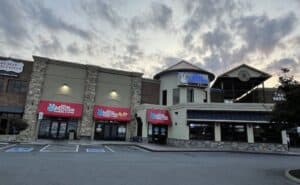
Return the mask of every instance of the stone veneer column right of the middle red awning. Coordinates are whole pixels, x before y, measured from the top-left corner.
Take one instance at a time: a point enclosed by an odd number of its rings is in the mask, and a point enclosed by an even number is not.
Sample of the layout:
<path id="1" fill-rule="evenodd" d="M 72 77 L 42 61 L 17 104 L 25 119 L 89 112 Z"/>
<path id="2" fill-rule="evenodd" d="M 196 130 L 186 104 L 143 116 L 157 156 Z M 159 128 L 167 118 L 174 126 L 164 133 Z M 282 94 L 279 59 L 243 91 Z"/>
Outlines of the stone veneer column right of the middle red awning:
<path id="1" fill-rule="evenodd" d="M 130 137 L 135 136 L 137 133 L 137 123 L 135 120 L 136 107 L 141 104 L 141 91 L 142 91 L 142 78 L 132 77 L 131 78 L 131 121 L 127 126 L 126 139 L 129 140 Z"/>

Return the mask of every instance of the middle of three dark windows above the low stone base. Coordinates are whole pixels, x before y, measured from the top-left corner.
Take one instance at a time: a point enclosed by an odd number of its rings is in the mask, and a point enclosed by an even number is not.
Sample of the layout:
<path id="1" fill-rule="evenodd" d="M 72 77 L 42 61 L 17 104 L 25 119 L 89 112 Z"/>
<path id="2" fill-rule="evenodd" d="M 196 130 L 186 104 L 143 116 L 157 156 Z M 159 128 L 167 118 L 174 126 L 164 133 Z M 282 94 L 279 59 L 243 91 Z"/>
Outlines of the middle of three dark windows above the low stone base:
<path id="1" fill-rule="evenodd" d="M 246 124 L 222 123 L 221 137 L 222 141 L 247 142 Z"/>

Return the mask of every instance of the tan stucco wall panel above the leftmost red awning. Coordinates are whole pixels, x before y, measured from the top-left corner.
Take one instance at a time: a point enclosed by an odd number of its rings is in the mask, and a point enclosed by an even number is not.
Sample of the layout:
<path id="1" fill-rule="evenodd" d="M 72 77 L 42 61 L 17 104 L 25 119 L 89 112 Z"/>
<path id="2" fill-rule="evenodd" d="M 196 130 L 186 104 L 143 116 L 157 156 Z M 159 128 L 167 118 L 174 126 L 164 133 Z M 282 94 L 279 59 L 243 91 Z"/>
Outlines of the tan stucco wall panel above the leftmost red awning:
<path id="1" fill-rule="evenodd" d="M 48 64 L 41 99 L 82 103 L 86 70 L 74 66 Z M 62 86 L 69 87 L 63 92 Z"/>

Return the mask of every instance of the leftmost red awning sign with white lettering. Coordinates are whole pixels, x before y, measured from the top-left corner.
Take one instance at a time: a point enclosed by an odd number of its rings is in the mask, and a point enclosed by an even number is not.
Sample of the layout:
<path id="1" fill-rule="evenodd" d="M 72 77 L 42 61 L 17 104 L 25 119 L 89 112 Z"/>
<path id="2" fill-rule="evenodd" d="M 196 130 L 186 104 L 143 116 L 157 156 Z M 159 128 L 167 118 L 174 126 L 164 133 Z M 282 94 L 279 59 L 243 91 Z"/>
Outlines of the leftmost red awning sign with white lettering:
<path id="1" fill-rule="evenodd" d="M 45 116 L 80 118 L 82 104 L 42 100 L 38 111 L 43 112 Z"/>

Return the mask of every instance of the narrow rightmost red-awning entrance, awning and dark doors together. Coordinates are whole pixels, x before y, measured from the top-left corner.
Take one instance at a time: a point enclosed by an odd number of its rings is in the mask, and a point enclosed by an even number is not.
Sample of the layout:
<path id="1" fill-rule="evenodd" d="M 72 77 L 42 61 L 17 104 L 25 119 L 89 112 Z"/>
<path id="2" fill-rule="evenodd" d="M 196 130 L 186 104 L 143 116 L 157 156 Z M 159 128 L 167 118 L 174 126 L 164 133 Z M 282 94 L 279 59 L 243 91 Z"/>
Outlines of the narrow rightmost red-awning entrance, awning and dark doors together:
<path id="1" fill-rule="evenodd" d="M 161 109 L 148 109 L 147 122 L 149 141 L 158 144 L 166 144 L 168 138 L 168 126 L 171 125 L 169 112 Z"/>

